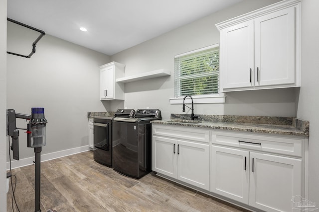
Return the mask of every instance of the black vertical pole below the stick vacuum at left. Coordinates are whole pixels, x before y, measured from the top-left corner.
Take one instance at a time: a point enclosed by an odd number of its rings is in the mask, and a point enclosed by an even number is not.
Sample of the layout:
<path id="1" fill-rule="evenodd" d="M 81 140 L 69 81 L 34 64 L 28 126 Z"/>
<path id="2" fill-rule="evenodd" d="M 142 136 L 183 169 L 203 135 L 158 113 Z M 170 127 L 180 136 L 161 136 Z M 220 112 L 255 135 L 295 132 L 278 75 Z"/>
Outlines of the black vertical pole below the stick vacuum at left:
<path id="1" fill-rule="evenodd" d="M 34 153 L 35 153 L 34 212 L 41 212 L 41 209 L 40 209 L 41 147 L 35 147 Z"/>

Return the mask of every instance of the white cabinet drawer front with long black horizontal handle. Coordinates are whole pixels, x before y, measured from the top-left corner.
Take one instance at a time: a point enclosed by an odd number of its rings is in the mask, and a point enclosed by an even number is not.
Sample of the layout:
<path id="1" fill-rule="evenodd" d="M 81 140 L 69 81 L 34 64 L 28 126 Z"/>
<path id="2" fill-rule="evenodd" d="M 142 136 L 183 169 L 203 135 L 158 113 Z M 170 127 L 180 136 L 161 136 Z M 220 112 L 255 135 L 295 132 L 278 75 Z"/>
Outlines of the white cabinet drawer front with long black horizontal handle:
<path id="1" fill-rule="evenodd" d="M 298 157 L 303 156 L 303 142 L 303 139 L 255 136 L 236 133 L 216 133 L 212 135 L 212 143 L 215 144 Z"/>

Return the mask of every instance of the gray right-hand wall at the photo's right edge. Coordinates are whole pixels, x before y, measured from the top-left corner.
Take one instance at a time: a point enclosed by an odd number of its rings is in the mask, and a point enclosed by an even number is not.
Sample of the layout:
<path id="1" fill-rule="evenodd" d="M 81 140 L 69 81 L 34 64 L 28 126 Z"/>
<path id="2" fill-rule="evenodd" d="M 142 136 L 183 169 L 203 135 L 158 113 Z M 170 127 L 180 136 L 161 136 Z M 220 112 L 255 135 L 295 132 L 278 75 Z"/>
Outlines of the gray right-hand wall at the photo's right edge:
<path id="1" fill-rule="evenodd" d="M 319 204 L 319 1 L 302 1 L 302 86 L 297 116 L 310 121 L 309 200 Z"/>

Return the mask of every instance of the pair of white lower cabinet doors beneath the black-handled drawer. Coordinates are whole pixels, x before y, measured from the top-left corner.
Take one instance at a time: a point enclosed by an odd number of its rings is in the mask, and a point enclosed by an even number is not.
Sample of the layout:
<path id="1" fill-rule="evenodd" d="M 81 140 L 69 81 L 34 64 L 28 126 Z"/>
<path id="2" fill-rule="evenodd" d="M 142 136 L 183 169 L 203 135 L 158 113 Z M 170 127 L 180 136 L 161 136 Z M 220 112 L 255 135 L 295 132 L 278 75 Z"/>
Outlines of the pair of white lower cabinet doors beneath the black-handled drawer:
<path id="1" fill-rule="evenodd" d="M 267 212 L 293 211 L 301 159 L 215 145 L 211 152 L 211 192 Z"/>

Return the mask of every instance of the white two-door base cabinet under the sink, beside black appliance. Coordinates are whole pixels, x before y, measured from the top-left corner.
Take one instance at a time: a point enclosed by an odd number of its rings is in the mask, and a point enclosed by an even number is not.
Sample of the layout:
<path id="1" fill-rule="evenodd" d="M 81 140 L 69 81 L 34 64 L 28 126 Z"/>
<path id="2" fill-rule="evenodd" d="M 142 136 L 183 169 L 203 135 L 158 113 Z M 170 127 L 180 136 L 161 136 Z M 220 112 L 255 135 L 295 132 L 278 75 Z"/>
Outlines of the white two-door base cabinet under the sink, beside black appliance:
<path id="1" fill-rule="evenodd" d="M 209 143 L 191 138 L 176 139 L 182 134 L 187 134 L 187 131 L 171 126 L 153 125 L 152 170 L 209 190 Z M 192 130 L 190 134 L 195 135 L 196 131 Z"/>

